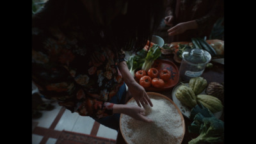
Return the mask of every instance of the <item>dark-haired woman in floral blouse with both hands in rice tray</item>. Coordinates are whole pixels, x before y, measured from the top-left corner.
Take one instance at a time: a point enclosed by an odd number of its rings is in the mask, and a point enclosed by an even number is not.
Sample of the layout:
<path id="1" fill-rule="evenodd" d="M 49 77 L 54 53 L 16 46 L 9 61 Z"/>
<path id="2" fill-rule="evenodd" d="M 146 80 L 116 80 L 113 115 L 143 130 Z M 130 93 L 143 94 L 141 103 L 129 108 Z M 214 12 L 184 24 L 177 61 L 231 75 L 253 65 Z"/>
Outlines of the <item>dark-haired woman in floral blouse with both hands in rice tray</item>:
<path id="1" fill-rule="evenodd" d="M 163 10 L 159 0 L 49 0 L 32 21 L 33 83 L 46 99 L 116 130 L 120 113 L 152 122 L 124 51 L 144 47 Z M 125 105 L 126 95 L 138 106 Z"/>

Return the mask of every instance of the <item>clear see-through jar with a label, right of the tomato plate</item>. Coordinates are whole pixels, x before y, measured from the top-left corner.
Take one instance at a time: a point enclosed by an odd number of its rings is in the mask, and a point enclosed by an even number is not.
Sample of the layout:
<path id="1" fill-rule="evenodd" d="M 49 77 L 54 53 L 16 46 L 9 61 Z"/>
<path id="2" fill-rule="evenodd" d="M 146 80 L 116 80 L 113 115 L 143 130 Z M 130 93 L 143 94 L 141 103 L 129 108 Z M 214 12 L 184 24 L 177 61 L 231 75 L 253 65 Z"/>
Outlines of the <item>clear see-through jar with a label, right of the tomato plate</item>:
<path id="1" fill-rule="evenodd" d="M 205 66 L 211 61 L 211 54 L 202 49 L 186 49 L 180 63 L 180 81 L 188 82 L 192 77 L 201 76 Z"/>

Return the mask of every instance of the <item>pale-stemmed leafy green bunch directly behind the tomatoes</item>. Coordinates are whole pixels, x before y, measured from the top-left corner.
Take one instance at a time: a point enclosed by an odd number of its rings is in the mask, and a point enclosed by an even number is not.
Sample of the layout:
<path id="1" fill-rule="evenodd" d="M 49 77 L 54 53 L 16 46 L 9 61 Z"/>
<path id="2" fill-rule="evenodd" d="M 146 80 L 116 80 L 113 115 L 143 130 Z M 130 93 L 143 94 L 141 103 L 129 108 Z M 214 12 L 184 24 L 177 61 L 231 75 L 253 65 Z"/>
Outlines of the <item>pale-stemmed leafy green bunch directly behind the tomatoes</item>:
<path id="1" fill-rule="evenodd" d="M 143 63 L 141 70 L 145 70 L 146 72 L 151 68 L 154 61 L 159 58 L 161 55 L 161 50 L 158 45 L 154 44 L 147 52 L 147 56 L 145 58 L 145 62 Z"/>

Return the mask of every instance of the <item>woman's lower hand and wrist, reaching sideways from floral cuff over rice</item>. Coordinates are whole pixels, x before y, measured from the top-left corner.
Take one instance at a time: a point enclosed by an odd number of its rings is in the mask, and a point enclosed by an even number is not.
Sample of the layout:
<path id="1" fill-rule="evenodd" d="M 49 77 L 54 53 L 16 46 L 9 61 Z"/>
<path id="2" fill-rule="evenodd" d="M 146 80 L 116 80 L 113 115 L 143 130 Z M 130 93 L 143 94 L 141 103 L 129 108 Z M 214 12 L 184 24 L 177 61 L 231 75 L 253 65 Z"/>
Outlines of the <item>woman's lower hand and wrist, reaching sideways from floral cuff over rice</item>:
<path id="1" fill-rule="evenodd" d="M 141 120 L 143 122 L 153 122 L 153 120 L 145 116 L 145 109 L 140 108 L 134 104 L 114 104 L 113 113 L 124 113 L 125 115 L 131 116 L 136 120 Z"/>

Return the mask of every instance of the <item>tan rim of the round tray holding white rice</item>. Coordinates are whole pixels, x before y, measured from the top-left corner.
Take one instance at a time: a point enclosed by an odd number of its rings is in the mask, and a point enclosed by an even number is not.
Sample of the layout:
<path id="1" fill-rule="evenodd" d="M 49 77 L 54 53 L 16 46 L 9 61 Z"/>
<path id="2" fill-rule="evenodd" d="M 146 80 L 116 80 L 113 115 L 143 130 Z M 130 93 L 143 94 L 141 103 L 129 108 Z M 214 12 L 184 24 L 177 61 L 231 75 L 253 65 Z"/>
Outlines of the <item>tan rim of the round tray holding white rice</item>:
<path id="1" fill-rule="evenodd" d="M 183 115 L 182 115 L 180 109 L 178 108 L 178 106 L 177 106 L 170 98 L 168 98 L 168 97 L 166 97 L 165 95 L 162 95 L 162 94 L 160 94 L 160 93 L 156 93 L 156 92 L 147 92 L 147 94 L 148 94 L 149 97 L 155 97 L 155 96 L 156 96 L 156 97 L 161 97 L 161 98 L 163 98 L 163 99 L 166 99 L 166 100 L 170 101 L 170 102 L 173 104 L 173 106 L 175 106 L 175 109 L 177 109 L 177 111 L 178 111 L 178 113 L 179 113 L 180 121 L 182 122 L 182 129 L 183 129 L 183 132 L 182 132 L 182 136 L 181 136 L 181 140 L 180 140 L 180 143 L 182 143 L 182 140 L 183 140 L 184 134 L 185 134 L 185 122 L 184 122 L 184 117 L 183 117 Z M 152 95 L 154 95 L 154 96 L 152 96 Z M 133 99 L 133 98 L 130 99 L 126 104 L 128 104 L 129 102 L 131 102 L 131 100 L 134 100 L 134 99 Z M 123 117 L 123 115 L 124 115 L 124 114 L 121 114 L 121 115 L 120 115 L 120 122 L 119 122 L 119 125 L 120 125 L 120 132 L 121 132 L 121 134 L 122 134 L 122 136 L 123 136 L 123 138 L 124 138 L 124 140 L 125 140 L 125 143 L 129 144 L 129 143 L 127 142 L 127 138 L 125 138 L 124 130 L 122 129 L 122 117 Z"/>

